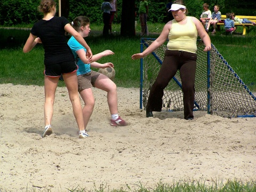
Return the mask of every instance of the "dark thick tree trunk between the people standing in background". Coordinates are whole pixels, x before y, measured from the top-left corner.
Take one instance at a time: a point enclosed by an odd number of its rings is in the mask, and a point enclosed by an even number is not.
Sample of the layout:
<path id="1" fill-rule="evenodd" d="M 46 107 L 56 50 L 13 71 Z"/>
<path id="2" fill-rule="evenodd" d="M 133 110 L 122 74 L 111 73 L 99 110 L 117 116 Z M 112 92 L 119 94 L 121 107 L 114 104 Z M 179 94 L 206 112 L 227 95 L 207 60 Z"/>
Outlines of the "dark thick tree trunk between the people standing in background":
<path id="1" fill-rule="evenodd" d="M 135 0 L 123 0 L 121 35 L 135 36 Z"/>

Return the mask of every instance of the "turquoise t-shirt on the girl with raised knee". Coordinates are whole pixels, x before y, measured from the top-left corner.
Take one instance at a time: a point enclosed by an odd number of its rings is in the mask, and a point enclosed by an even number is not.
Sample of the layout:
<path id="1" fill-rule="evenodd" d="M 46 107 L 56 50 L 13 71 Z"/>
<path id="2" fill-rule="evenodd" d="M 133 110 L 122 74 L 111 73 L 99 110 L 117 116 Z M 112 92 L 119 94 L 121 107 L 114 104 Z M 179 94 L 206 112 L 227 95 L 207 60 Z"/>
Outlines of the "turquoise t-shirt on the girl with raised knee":
<path id="1" fill-rule="evenodd" d="M 78 41 L 76 41 L 75 37 L 71 36 L 68 40 L 68 46 L 70 47 L 72 53 L 75 56 L 76 64 L 78 66 L 78 69 L 76 71 L 77 75 L 83 75 L 86 73 L 91 72 L 91 65 L 87 63 L 83 63 L 83 61 L 78 57 L 77 51 L 84 50 L 86 52 L 86 49 L 81 45 Z"/>

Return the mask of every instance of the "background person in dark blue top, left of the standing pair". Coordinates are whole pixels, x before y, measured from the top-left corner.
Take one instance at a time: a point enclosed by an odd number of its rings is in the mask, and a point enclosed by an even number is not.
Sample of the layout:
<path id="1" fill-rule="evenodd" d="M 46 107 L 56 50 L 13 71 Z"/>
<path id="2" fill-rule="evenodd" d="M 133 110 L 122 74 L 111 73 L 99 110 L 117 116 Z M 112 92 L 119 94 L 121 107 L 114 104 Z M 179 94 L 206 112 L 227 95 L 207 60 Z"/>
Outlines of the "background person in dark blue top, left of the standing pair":
<path id="1" fill-rule="evenodd" d="M 105 0 L 101 5 L 101 10 L 103 11 L 103 36 L 108 36 L 109 21 L 110 21 L 110 10 L 113 8 L 109 3 L 110 0 Z"/>

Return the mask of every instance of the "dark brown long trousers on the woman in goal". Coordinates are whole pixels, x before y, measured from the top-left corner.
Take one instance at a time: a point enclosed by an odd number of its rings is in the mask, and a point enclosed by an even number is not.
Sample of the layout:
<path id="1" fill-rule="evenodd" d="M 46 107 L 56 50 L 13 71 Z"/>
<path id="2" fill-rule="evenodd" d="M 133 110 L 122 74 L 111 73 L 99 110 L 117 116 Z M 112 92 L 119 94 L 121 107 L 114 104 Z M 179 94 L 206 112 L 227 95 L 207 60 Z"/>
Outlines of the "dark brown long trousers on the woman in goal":
<path id="1" fill-rule="evenodd" d="M 183 91 L 184 118 L 194 118 L 196 53 L 166 50 L 164 60 L 149 92 L 147 111 L 161 111 L 164 89 L 180 70 Z"/>

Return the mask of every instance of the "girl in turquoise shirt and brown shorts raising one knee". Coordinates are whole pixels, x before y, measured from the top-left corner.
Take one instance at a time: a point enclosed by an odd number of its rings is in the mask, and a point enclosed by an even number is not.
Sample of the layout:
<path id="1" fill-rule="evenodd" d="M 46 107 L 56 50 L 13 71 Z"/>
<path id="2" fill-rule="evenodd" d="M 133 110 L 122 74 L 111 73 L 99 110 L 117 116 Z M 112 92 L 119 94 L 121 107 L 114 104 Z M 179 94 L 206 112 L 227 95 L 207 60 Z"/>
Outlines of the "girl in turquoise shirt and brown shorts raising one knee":
<path id="1" fill-rule="evenodd" d="M 90 20 L 87 17 L 79 16 L 75 18 L 73 22 L 73 27 L 82 36 L 87 37 L 90 33 Z M 88 63 L 86 58 L 86 49 L 76 41 L 72 36 L 68 45 L 75 56 L 75 60 L 78 65 L 77 70 L 77 81 L 78 81 L 78 92 L 80 93 L 83 101 L 83 115 L 84 115 L 84 125 L 87 126 L 89 119 L 92 115 L 94 107 L 94 97 L 91 87 L 97 87 L 103 91 L 107 91 L 107 101 L 111 114 L 110 125 L 112 126 L 126 126 L 128 125 L 119 115 L 117 110 L 117 91 L 116 84 L 111 81 L 107 76 L 100 74 L 96 71 L 91 70 L 91 66 L 94 68 L 107 68 L 114 67 L 113 63 L 98 63 L 95 62 L 102 57 L 107 55 L 112 55 L 114 52 L 110 50 L 103 51 L 101 53 L 92 56 L 91 64 Z"/>

